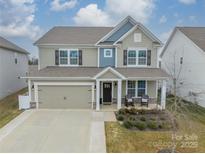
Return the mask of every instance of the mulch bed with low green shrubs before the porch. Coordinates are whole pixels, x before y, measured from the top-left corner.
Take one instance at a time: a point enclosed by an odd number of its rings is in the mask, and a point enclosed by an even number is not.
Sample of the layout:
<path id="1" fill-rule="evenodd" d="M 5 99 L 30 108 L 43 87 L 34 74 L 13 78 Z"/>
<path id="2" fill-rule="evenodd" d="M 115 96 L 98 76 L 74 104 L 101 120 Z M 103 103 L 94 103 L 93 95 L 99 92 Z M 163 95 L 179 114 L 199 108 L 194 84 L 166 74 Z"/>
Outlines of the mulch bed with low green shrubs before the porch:
<path id="1" fill-rule="evenodd" d="M 166 111 L 122 108 L 115 112 L 116 119 L 130 130 L 171 130 L 173 122 Z"/>

